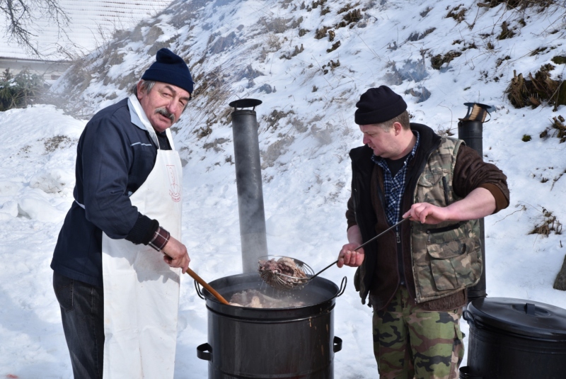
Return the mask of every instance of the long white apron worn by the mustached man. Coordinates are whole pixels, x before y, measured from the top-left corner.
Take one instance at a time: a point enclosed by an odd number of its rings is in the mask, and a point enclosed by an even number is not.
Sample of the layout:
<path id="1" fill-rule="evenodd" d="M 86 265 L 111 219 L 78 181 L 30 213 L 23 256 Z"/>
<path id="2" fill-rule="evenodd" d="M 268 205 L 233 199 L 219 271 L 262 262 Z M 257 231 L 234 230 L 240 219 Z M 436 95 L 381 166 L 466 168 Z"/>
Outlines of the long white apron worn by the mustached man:
<path id="1" fill-rule="evenodd" d="M 139 101 L 130 102 L 159 146 Z M 130 196 L 132 205 L 180 240 L 181 162 L 173 150 L 157 150 L 154 169 Z M 163 254 L 143 244 L 110 239 L 103 233 L 104 378 L 173 378 L 180 268 L 171 268 Z"/>

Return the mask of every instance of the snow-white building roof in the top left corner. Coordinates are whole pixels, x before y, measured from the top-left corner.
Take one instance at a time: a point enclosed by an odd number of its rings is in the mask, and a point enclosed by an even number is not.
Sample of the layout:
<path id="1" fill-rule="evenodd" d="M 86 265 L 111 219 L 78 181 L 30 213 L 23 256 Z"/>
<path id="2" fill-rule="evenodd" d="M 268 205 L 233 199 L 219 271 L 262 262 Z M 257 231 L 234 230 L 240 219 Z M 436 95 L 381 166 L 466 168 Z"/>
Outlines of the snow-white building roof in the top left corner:
<path id="1" fill-rule="evenodd" d="M 6 29 L 0 40 L 0 59 L 19 60 L 69 60 L 69 55 L 89 52 L 109 39 L 115 30 L 135 26 L 144 18 L 155 16 L 166 9 L 171 0 L 59 0 L 59 6 L 69 17 L 69 26 L 60 34 L 57 24 L 37 16 L 37 23 L 30 30 L 37 37 L 37 50 L 44 57 L 37 57 L 18 46 L 8 43 Z M 0 27 L 1 28 L 1 27 Z"/>

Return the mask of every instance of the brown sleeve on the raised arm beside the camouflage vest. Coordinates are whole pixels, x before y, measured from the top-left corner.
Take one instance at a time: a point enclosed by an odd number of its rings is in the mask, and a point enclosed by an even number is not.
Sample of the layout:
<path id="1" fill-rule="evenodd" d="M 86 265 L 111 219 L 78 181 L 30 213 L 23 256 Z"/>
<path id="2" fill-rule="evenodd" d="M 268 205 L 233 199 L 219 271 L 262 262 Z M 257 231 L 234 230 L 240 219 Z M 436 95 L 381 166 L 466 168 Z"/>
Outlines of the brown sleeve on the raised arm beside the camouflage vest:
<path id="1" fill-rule="evenodd" d="M 495 198 L 495 211 L 499 212 L 509 206 L 509 188 L 507 176 L 495 166 L 483 162 L 482 158 L 471 147 L 461 146 L 454 166 L 454 192 L 462 198 L 475 188 L 485 188 Z"/>

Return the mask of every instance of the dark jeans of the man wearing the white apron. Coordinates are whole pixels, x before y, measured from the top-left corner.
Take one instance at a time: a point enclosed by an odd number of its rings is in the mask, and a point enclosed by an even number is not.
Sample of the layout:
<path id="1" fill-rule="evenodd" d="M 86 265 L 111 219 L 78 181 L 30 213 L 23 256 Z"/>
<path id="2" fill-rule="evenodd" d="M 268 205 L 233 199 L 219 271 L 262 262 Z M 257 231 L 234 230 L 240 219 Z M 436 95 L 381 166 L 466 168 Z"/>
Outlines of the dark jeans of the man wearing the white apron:
<path id="1" fill-rule="evenodd" d="M 53 289 L 75 378 L 102 378 L 104 292 L 102 287 L 53 273 Z"/>

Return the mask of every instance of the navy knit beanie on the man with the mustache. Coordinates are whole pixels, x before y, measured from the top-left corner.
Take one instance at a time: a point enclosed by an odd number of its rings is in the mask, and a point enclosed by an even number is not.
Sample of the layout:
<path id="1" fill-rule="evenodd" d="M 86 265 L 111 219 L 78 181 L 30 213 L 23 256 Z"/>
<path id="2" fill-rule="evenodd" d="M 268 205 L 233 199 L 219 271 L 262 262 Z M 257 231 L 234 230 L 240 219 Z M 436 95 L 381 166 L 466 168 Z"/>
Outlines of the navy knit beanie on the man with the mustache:
<path id="1" fill-rule="evenodd" d="M 149 66 L 141 79 L 173 84 L 173 86 L 178 86 L 189 94 L 192 94 L 192 85 L 194 84 L 189 67 L 187 67 L 183 58 L 166 48 L 157 52 L 156 62 Z"/>

